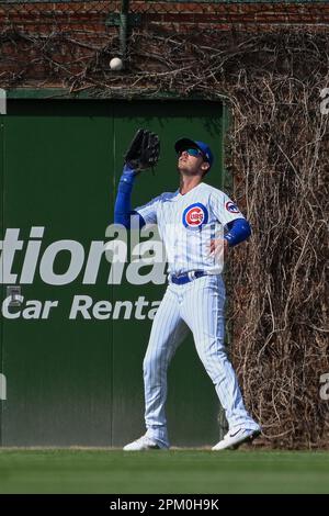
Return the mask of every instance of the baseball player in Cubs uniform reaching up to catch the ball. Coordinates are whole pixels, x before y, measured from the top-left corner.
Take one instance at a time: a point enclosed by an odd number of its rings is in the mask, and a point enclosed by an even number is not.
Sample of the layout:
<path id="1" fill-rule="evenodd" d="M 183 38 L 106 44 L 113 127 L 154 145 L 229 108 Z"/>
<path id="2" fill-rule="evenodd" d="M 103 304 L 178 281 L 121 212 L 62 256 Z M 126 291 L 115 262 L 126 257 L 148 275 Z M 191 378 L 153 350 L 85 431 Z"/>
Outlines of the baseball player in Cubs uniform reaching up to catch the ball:
<path id="1" fill-rule="evenodd" d="M 144 359 L 146 434 L 124 450 L 168 449 L 164 404 L 167 369 L 186 333 L 211 377 L 229 430 L 212 449 L 237 448 L 260 435 L 261 428 L 245 408 L 237 377 L 225 349 L 225 285 L 223 260 L 229 248 L 250 236 L 250 226 L 237 205 L 205 182 L 214 156 L 203 142 L 179 139 L 175 145 L 180 188 L 132 210 L 136 176 L 159 158 L 157 135 L 139 130 L 125 156 L 115 202 L 115 223 L 131 227 L 157 224 L 168 257 L 168 287 L 155 316 Z M 224 228 L 218 237 L 218 228 Z M 223 236 L 224 235 L 224 236 Z"/>

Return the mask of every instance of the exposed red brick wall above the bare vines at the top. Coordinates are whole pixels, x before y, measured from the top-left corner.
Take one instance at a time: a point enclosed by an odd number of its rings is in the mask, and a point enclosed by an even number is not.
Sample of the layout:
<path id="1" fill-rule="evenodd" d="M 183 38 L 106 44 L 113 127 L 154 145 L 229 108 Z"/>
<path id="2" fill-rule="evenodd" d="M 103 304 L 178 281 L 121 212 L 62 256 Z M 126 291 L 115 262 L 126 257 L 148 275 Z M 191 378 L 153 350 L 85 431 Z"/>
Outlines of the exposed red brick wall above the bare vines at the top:
<path id="1" fill-rule="evenodd" d="M 20 85 L 42 78 L 56 83 L 56 77 L 65 77 L 60 66 L 82 74 L 97 53 L 117 54 L 118 29 L 106 20 L 120 9 L 121 1 L 0 4 L 0 87 L 10 77 Z M 139 14 L 137 31 L 162 35 L 195 30 L 262 33 L 282 27 L 326 32 L 329 26 L 328 2 L 132 1 L 131 12 Z M 102 61 L 97 66 L 102 67 Z"/>

